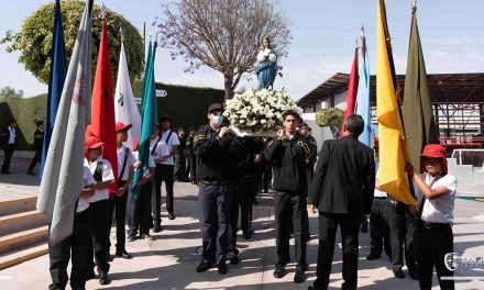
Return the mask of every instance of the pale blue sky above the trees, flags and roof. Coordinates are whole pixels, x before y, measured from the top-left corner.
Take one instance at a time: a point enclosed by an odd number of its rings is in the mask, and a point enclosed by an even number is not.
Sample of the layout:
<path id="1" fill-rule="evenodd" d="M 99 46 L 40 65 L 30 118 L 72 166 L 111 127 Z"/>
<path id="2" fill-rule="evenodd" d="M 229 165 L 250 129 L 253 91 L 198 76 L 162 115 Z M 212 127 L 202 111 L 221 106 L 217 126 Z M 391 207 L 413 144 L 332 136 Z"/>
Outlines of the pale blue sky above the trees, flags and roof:
<path id="1" fill-rule="evenodd" d="M 53 0 L 0 0 L 0 37 L 8 30 L 20 31 L 24 19 Z M 95 1 L 100 4 L 100 1 Z M 121 13 L 134 26 L 146 22 L 147 32 L 166 0 L 105 0 L 106 7 Z M 355 40 L 365 27 L 371 74 L 375 74 L 377 0 L 279 0 L 289 19 L 293 43 L 287 58 L 280 59 L 284 77 L 275 89 L 285 88 L 300 99 L 336 72 L 349 72 Z M 484 71 L 484 0 L 417 0 L 417 19 L 428 74 Z M 411 16 L 411 0 L 386 0 L 397 74 L 405 74 Z M 9 54 L 0 45 L 0 88 L 22 89 L 25 97 L 47 91 L 22 64 L 20 53 Z M 156 81 L 223 89 L 223 77 L 208 67 L 185 74 L 184 60 L 172 60 L 167 49 L 156 54 Z M 242 80 L 240 88 L 256 87 L 256 80 Z M 169 92 L 168 92 L 169 93 Z"/>

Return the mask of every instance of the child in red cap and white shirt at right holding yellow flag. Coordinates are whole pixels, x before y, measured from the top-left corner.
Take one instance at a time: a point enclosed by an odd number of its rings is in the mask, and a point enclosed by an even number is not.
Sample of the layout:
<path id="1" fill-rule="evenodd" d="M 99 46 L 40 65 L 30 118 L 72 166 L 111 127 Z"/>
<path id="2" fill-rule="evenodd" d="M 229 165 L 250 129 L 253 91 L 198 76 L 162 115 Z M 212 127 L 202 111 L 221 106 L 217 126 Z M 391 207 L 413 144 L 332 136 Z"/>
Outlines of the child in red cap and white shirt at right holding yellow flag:
<path id="1" fill-rule="evenodd" d="M 407 171 L 414 177 L 419 201 L 419 224 L 416 231 L 417 263 L 420 289 L 432 288 L 436 267 L 440 289 L 454 289 L 453 272 L 446 266 L 447 254 L 453 253 L 453 208 L 458 180 L 448 174 L 446 149 L 429 144 L 420 157 L 419 175 L 411 165 Z"/>

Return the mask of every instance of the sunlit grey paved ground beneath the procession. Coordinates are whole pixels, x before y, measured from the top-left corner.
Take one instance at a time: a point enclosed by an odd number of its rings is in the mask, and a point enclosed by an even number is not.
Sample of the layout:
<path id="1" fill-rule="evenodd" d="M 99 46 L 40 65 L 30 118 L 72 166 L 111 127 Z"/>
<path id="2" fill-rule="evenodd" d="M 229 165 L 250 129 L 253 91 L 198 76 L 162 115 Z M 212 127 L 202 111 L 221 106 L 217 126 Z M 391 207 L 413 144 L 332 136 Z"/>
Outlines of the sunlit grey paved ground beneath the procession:
<path id="1" fill-rule="evenodd" d="M 23 170 L 14 170 L 6 180 L 0 175 L 0 191 L 6 187 L 20 188 L 20 183 L 35 183 L 35 178 L 28 177 Z M 19 172 L 15 175 L 15 172 Z M 16 180 L 18 185 L 6 181 Z M 31 186 L 29 186 L 31 187 Z M 34 186 L 32 186 L 35 189 Z M 272 194 L 262 194 L 261 205 L 254 207 L 253 228 L 255 234 L 251 241 L 239 236 L 241 264 L 229 265 L 229 274 L 220 276 L 217 269 L 197 274 L 195 268 L 199 261 L 198 246 L 201 244 L 198 226 L 197 188 L 189 183 L 175 183 L 175 209 L 177 219 L 163 220 L 164 231 L 155 234 L 154 242 L 142 239 L 128 243 L 127 248 L 133 259 L 116 258 L 111 263 L 111 285 L 101 287 L 97 280 L 87 283 L 87 289 L 307 289 L 315 279 L 317 257 L 317 216 L 310 216 L 311 242 L 308 245 L 308 281 L 295 285 L 293 276 L 295 265 L 288 266 L 288 274 L 283 279 L 273 277 L 276 260 L 274 238 L 274 208 Z M 468 256 L 484 256 L 484 203 L 457 200 L 454 244 L 455 252 Z M 164 213 L 166 211 L 164 210 Z M 114 228 L 113 228 L 114 230 Z M 116 231 L 111 238 L 114 238 Z M 369 234 L 360 235 L 359 287 L 361 289 L 418 289 L 418 282 L 393 277 L 388 258 L 367 261 Z M 294 248 L 292 256 L 294 258 Z M 340 289 L 342 283 L 342 253 L 338 242 L 331 275 L 331 289 Z M 406 270 L 405 270 L 406 272 Z M 457 276 L 482 276 L 484 267 L 459 268 Z M 0 271 L 1 289 L 46 289 L 50 283 L 48 257 L 34 260 Z M 435 289 L 437 278 L 433 281 Z M 484 289 L 484 281 L 459 281 L 457 289 Z"/>

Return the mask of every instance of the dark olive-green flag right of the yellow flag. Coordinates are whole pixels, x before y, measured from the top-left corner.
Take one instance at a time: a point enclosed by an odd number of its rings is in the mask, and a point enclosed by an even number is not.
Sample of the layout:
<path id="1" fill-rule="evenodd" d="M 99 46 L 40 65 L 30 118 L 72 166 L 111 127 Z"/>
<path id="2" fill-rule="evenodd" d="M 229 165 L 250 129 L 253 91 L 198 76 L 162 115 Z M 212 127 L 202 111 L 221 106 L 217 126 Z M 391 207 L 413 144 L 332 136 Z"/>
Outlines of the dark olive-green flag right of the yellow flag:
<path id="1" fill-rule="evenodd" d="M 439 133 L 433 120 L 416 10 L 414 8 L 411 12 L 403 116 L 411 164 L 415 168 L 420 168 L 419 156 L 424 147 L 429 143 L 438 144 Z"/>

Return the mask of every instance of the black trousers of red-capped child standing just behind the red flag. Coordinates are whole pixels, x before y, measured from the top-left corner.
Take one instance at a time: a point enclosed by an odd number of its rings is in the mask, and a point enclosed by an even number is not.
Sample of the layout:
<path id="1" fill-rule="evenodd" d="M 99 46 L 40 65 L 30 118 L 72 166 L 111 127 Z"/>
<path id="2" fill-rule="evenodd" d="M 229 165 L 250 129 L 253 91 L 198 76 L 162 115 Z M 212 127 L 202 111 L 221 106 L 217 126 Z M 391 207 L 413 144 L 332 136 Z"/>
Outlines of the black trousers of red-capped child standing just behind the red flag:
<path id="1" fill-rule="evenodd" d="M 119 187 L 123 187 L 127 181 L 120 180 Z M 112 214 L 116 210 L 116 248 L 117 249 L 124 249 L 127 234 L 124 230 L 124 223 L 127 221 L 127 201 L 128 201 L 128 192 L 127 190 L 122 197 L 118 197 L 116 194 L 111 194 L 109 197 L 109 216 L 108 216 L 108 231 L 109 234 L 111 233 L 111 226 L 112 226 Z M 111 241 L 109 241 L 109 246 L 111 246 Z"/>

